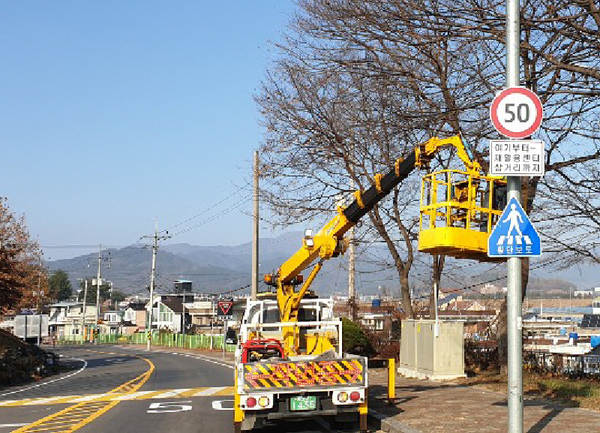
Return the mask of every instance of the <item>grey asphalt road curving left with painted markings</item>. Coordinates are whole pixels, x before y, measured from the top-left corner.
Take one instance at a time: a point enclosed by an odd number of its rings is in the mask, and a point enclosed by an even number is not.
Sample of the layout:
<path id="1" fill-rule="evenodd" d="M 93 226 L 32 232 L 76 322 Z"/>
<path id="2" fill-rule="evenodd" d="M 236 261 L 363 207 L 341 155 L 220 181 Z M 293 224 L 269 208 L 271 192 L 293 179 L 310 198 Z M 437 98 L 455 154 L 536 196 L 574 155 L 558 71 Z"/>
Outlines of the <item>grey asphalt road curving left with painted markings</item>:
<path id="1" fill-rule="evenodd" d="M 233 432 L 233 369 L 227 364 L 160 349 L 85 346 L 55 352 L 61 363 L 72 367 L 70 371 L 0 390 L 0 433 L 33 429 L 52 433 L 67 427 L 86 433 Z M 107 401 L 98 403 L 99 395 Z M 28 426 L 39 420 L 44 420 L 42 425 Z M 329 430 L 319 420 L 260 430 L 323 431 Z"/>

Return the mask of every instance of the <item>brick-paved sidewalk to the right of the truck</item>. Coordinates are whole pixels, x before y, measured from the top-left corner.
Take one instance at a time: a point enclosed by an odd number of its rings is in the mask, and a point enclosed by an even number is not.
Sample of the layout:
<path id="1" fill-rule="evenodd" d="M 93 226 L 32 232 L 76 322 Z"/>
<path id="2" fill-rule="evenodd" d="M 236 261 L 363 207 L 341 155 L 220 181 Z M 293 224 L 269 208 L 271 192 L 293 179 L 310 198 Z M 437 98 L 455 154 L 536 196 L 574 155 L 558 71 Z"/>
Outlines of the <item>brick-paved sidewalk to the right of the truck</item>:
<path id="1" fill-rule="evenodd" d="M 508 431 L 506 395 L 481 387 L 396 377 L 396 404 L 387 403 L 387 369 L 369 372 L 369 409 L 383 415 L 384 432 L 495 433 Z M 527 433 L 600 431 L 600 413 L 526 400 Z"/>

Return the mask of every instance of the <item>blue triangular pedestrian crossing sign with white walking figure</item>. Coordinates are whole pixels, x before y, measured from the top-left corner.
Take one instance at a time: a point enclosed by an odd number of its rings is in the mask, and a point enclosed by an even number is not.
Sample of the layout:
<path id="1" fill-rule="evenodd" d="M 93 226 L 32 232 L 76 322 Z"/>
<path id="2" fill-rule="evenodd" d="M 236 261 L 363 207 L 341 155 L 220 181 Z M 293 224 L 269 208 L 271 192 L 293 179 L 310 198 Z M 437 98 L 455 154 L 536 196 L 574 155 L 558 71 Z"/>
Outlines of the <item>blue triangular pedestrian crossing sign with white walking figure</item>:
<path id="1" fill-rule="evenodd" d="M 511 198 L 488 238 L 489 257 L 537 257 L 542 242 L 519 202 Z"/>

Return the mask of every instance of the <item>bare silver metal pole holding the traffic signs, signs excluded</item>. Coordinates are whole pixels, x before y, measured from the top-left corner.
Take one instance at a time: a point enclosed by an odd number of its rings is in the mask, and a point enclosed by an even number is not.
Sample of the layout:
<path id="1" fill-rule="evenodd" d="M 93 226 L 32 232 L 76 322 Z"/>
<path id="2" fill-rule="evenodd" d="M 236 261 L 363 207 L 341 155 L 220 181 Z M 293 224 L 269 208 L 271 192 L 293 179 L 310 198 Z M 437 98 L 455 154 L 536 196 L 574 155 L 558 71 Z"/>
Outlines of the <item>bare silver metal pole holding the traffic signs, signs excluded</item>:
<path id="1" fill-rule="evenodd" d="M 520 0 L 506 5 L 506 86 L 520 84 Z M 507 177 L 507 202 L 521 202 L 521 178 Z M 507 263 L 507 334 L 508 334 L 508 431 L 523 432 L 523 318 L 521 258 L 509 257 Z"/>

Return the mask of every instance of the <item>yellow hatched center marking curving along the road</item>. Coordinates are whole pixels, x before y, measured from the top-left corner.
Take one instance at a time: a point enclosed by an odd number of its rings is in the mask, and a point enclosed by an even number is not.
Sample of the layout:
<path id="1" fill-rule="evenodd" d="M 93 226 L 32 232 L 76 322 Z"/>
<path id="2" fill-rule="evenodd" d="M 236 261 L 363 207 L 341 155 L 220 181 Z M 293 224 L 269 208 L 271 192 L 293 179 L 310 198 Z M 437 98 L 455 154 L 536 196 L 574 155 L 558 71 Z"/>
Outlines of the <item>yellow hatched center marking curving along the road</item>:
<path id="1" fill-rule="evenodd" d="M 89 350 L 89 352 L 96 352 L 102 354 L 109 355 L 119 355 L 119 356 L 130 356 L 134 358 L 139 358 L 144 360 L 150 368 L 145 372 L 137 376 L 136 378 L 125 382 L 122 385 L 110 390 L 105 394 L 101 394 L 98 396 L 98 399 L 105 397 L 107 394 L 130 394 L 134 393 L 138 389 L 142 387 L 144 383 L 150 378 L 152 373 L 154 372 L 154 364 L 149 359 L 146 359 L 139 355 L 130 355 L 130 354 L 116 354 L 116 353 L 106 353 L 99 352 L 95 350 Z M 126 390 L 126 392 L 123 392 Z M 110 409 L 119 404 L 120 401 L 89 401 L 78 403 L 74 406 L 70 406 L 66 409 L 63 409 L 55 414 L 42 418 L 38 421 L 35 421 L 29 425 L 26 425 L 20 429 L 14 430 L 13 433 L 22 433 L 22 432 L 41 432 L 41 431 L 49 431 L 60 429 L 61 432 L 74 432 L 81 427 L 89 424 L 94 421 L 96 418 L 102 416 Z M 64 424 L 64 425 L 63 425 Z"/>

